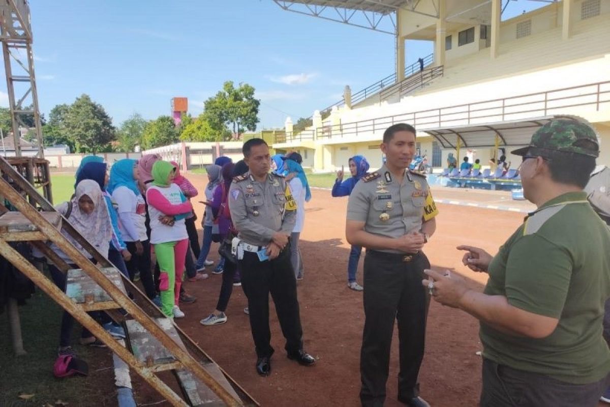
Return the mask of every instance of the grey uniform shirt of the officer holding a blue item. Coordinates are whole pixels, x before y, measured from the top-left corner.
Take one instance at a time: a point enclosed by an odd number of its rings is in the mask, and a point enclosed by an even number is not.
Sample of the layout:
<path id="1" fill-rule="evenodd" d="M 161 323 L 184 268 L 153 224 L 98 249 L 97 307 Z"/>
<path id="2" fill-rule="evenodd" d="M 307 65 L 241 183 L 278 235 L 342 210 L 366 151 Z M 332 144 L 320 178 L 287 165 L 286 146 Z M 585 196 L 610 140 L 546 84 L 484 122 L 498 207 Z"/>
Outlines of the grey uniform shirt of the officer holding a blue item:
<path id="1" fill-rule="evenodd" d="M 267 246 L 275 232 L 290 236 L 295 227 L 296 205 L 281 176 L 269 174 L 264 182 L 249 172 L 235 177 L 228 201 L 237 237 L 251 245 Z"/>

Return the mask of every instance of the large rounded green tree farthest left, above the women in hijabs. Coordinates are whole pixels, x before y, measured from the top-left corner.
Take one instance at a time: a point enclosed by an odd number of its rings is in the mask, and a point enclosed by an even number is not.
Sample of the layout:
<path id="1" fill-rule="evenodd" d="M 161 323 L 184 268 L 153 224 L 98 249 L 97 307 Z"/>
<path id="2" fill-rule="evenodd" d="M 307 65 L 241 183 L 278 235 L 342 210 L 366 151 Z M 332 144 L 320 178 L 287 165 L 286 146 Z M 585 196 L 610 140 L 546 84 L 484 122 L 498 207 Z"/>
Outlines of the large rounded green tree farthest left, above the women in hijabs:
<path id="1" fill-rule="evenodd" d="M 76 98 L 70 109 L 63 115 L 61 129 L 76 145 L 80 153 L 93 153 L 107 148 L 115 139 L 112 119 L 101 104 L 95 103 L 88 95 Z"/>

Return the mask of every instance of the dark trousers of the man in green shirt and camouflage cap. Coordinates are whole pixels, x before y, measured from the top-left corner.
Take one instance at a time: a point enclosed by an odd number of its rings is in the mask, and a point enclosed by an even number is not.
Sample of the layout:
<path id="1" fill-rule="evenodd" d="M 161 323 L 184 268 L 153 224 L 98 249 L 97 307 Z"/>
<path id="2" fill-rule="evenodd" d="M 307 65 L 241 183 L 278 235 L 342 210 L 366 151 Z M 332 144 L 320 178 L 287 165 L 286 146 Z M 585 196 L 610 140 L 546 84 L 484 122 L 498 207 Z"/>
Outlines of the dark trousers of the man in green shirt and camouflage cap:
<path id="1" fill-rule="evenodd" d="M 483 358 L 481 407 L 595 407 L 610 374 L 594 383 L 572 384 Z"/>

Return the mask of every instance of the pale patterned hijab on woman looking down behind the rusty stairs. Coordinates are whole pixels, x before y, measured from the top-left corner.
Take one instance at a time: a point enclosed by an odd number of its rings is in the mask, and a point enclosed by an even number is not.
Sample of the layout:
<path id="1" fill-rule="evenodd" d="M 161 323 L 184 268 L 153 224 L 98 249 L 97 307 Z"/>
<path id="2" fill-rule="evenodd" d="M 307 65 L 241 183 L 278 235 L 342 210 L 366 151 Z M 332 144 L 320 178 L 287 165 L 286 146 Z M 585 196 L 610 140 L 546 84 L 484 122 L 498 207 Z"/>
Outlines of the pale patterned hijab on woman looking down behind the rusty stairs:
<path id="1" fill-rule="evenodd" d="M 87 195 L 93 201 L 95 209 L 91 214 L 85 214 L 81 211 L 78 201 L 83 195 Z M 98 182 L 93 179 L 84 179 L 76 185 L 76 192 L 72 198 L 72 212 L 68 217 L 70 225 L 93 245 L 98 251 L 108 256 L 108 248 L 110 239 L 112 239 L 112 223 L 106 206 L 106 200 L 102 196 L 102 190 L 99 189 Z M 71 236 L 66 236 L 73 244 L 76 243 L 77 248 L 81 248 Z M 82 251 L 82 249 L 81 249 Z"/>

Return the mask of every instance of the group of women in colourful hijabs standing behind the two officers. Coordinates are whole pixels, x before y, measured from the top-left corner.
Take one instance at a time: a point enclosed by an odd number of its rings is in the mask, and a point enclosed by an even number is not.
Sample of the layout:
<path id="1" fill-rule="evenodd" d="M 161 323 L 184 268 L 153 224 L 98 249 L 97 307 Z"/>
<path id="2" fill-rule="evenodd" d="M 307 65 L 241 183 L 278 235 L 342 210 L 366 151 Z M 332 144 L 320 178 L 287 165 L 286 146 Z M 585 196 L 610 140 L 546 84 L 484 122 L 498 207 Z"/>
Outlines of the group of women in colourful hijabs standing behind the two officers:
<path id="1" fill-rule="evenodd" d="M 277 154 L 271 163 L 273 172 L 287 179 L 297 203 L 297 221 L 290 236 L 296 279 L 304 276 L 299 240 L 304 226 L 304 205 L 312 196 L 302 163 L 303 158 L 298 153 Z M 350 195 L 356 182 L 368 171 L 368 162 L 362 156 L 352 157 L 349 165 L 351 178 L 343 181 L 343 171 L 338 171 L 332 196 Z M 139 160 L 118 160 L 110 170 L 101 157 L 84 157 L 76 173 L 71 200 L 57 205 L 56 209 L 121 273 L 131 281 L 139 279 L 146 296 L 163 314 L 168 318 L 181 318 L 185 314 L 179 304 L 196 301 L 185 292 L 182 282 L 208 278 L 206 266 L 213 265 L 213 261 L 207 259 L 212 243 L 223 242 L 237 233 L 228 209 L 228 191 L 232 179 L 247 171 L 243 160 L 233 163 L 229 157 L 218 157 L 214 164 L 206 167 L 208 183 L 204 187 L 203 201 L 200 201 L 206 206 L 201 220 L 201 245 L 195 224 L 198 217 L 191 203 L 192 198 L 199 195 L 198 189 L 181 175 L 178 163 L 163 161 L 157 154 L 147 154 Z M 91 257 L 68 234 L 65 236 L 85 256 Z M 58 247 L 53 249 L 60 258 L 71 263 Z M 356 291 L 362 290 L 356 282 L 360 254 L 361 248 L 351 248 L 348 287 Z M 65 290 L 65 275 L 50 261 L 48 269 L 54 283 Z M 222 284 L 217 305 L 201 320 L 202 325 L 227 321 L 225 311 L 232 289 L 240 285 L 237 264 L 222 255 L 212 273 L 223 275 Z M 248 308 L 244 312 L 248 314 Z M 90 314 L 112 336 L 126 336 L 123 328 L 106 313 Z M 73 325 L 74 319 L 65 312 L 60 328 L 59 356 L 76 355 L 71 346 Z M 80 342 L 94 347 L 105 346 L 85 329 Z"/>

